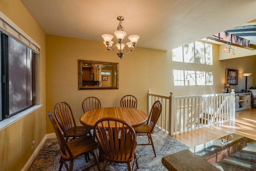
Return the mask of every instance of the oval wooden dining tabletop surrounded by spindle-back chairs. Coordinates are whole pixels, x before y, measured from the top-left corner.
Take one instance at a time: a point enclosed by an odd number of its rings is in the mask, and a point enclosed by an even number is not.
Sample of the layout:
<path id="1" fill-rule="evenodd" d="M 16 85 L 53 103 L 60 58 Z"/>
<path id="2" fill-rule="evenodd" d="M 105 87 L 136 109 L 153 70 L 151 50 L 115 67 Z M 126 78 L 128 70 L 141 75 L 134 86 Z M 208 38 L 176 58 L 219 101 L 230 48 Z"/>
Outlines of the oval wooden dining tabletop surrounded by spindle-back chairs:
<path id="1" fill-rule="evenodd" d="M 136 127 L 146 123 L 148 114 L 142 110 L 130 107 L 104 107 L 85 112 L 80 117 L 80 123 L 87 127 L 93 128 L 96 121 L 104 117 L 115 117 L 122 119 L 130 123 L 132 127 Z"/>

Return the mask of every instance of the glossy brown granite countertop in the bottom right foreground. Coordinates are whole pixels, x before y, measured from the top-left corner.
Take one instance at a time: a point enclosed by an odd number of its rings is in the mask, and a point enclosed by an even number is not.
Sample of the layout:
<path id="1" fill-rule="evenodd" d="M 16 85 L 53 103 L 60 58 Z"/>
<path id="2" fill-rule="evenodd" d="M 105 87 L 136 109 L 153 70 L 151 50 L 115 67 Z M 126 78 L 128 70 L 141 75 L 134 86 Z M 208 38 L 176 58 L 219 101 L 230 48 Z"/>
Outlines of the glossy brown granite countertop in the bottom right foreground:
<path id="1" fill-rule="evenodd" d="M 162 158 L 169 171 L 256 170 L 256 141 L 231 133 Z"/>

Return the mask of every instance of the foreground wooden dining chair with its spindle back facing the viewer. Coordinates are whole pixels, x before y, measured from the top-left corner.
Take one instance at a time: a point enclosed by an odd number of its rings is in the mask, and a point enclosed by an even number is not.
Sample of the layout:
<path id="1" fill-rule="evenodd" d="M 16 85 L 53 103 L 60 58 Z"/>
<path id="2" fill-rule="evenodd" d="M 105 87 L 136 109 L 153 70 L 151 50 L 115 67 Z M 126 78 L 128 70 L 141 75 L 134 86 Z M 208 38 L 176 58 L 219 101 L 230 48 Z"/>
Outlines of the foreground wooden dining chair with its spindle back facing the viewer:
<path id="1" fill-rule="evenodd" d="M 108 162 L 127 163 L 128 171 L 134 170 L 135 163 L 138 168 L 136 133 L 129 123 L 114 117 L 102 118 L 94 125 L 94 135 L 103 151 L 102 171 Z"/>

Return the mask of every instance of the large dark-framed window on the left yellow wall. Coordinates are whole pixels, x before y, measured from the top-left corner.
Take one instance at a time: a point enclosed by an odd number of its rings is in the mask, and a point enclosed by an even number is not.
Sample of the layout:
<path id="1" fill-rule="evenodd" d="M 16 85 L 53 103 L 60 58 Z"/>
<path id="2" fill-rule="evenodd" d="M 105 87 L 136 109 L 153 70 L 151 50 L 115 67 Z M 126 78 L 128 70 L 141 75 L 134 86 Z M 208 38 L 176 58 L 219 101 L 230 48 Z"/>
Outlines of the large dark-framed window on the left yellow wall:
<path id="1" fill-rule="evenodd" d="M 3 33 L 0 43 L 3 120 L 35 105 L 35 54 Z"/>

